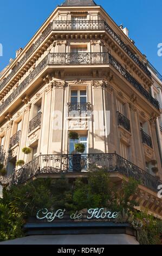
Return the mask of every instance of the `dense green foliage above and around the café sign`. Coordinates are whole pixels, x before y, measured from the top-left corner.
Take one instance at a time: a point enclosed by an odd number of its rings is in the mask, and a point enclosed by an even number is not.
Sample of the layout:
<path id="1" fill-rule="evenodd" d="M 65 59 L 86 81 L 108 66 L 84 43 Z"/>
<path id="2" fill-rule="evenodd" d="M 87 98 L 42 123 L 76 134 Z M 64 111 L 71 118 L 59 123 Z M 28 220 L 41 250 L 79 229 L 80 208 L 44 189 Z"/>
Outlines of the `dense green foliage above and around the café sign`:
<path id="1" fill-rule="evenodd" d="M 138 230 L 141 244 L 159 244 L 162 222 L 147 212 L 134 209 L 130 198 L 138 192 L 138 182 L 129 179 L 116 189 L 104 169 L 95 166 L 88 178 L 78 178 L 69 183 L 61 179 L 38 179 L 25 185 L 3 189 L 0 199 L 0 240 L 21 237 L 22 226 L 28 217 L 36 216 L 38 209 L 76 210 L 106 208 L 118 211 L 116 223 L 130 223 Z"/>

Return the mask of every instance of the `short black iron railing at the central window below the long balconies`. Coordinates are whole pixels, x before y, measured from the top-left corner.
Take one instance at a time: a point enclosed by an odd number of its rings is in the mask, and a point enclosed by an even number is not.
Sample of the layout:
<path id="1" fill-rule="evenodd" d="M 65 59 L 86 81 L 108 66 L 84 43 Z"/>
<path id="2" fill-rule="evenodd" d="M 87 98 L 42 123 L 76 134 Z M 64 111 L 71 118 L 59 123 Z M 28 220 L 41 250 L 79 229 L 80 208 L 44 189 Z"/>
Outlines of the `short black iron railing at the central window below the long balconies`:
<path id="1" fill-rule="evenodd" d="M 80 117 L 82 115 L 88 116 L 92 111 L 90 103 L 67 103 L 67 116 Z"/>

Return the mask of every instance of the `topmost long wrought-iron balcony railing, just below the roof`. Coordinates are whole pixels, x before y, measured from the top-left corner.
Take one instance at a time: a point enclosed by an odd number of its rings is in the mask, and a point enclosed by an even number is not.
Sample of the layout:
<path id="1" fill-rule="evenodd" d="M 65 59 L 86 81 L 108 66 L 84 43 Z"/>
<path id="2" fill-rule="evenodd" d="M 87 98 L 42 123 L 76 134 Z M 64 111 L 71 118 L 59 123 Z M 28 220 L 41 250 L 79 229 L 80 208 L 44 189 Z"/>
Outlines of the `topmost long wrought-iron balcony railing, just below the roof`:
<path id="1" fill-rule="evenodd" d="M 17 63 L 12 69 L 11 73 L 4 78 L 0 84 L 0 91 L 6 86 L 6 84 L 14 77 L 16 72 L 21 69 L 23 64 L 27 62 L 31 54 L 41 45 L 51 31 L 66 31 L 66 30 L 106 30 L 107 33 L 115 40 L 115 42 L 124 50 L 127 55 L 145 72 L 148 77 L 151 77 L 151 72 L 147 67 L 140 62 L 139 58 L 133 53 L 133 51 L 125 44 L 124 41 L 113 31 L 111 27 L 105 21 L 53 21 L 44 30 L 40 38 L 33 44 L 29 50 L 25 53 L 24 57 Z"/>

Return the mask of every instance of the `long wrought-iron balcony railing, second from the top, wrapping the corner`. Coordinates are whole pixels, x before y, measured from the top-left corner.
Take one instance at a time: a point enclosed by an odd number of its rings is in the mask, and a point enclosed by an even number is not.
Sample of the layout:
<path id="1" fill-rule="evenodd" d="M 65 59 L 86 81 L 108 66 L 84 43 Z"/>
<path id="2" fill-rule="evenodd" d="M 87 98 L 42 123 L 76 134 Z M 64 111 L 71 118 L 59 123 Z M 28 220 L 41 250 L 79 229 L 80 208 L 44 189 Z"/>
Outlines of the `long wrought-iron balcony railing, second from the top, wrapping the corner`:
<path id="1" fill-rule="evenodd" d="M 109 53 L 49 53 L 42 62 L 27 76 L 16 90 L 1 104 L 0 113 L 32 82 L 47 65 L 106 65 L 111 64 L 138 92 L 144 96 L 155 108 L 159 109 L 159 102 L 145 90 Z"/>

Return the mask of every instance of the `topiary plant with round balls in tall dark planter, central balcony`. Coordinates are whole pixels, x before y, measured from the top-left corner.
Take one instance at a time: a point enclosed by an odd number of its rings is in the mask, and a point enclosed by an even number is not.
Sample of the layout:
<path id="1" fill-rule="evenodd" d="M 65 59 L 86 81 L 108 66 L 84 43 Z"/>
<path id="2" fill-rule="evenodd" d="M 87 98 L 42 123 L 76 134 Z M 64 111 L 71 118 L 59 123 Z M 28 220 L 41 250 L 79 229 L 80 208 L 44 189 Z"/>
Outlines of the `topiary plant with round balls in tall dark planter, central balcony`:
<path id="1" fill-rule="evenodd" d="M 82 143 L 75 143 L 75 140 L 79 139 L 77 132 L 69 132 L 69 138 L 74 141 L 74 152 L 73 152 L 73 172 L 81 172 L 81 154 L 85 151 L 85 145 Z"/>

